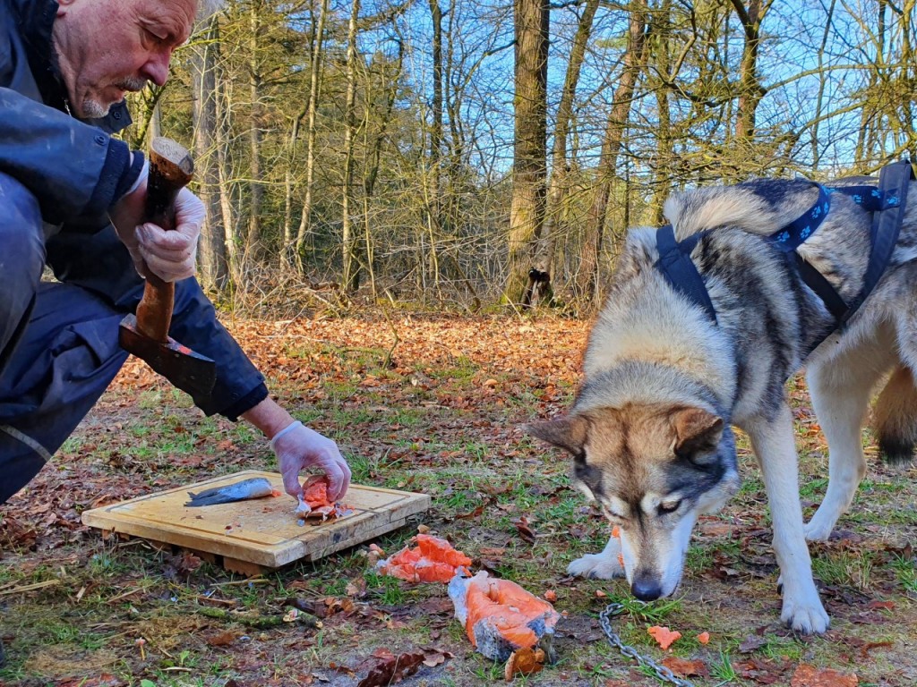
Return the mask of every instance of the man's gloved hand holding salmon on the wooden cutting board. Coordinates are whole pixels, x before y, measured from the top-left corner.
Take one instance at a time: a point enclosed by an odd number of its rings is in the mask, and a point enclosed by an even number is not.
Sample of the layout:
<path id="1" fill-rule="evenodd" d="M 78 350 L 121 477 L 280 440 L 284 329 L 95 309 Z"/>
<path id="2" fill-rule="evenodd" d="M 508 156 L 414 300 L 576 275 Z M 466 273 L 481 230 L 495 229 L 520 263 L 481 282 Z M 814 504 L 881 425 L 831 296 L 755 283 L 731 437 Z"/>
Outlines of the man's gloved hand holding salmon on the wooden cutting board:
<path id="1" fill-rule="evenodd" d="M 320 467 L 325 471 L 329 483 L 328 499 L 338 501 L 347 494 L 350 468 L 337 450 L 337 444 L 299 420 L 274 435 L 271 449 L 277 455 L 283 488 L 290 496 L 302 496 L 299 474 L 307 467 Z"/>

